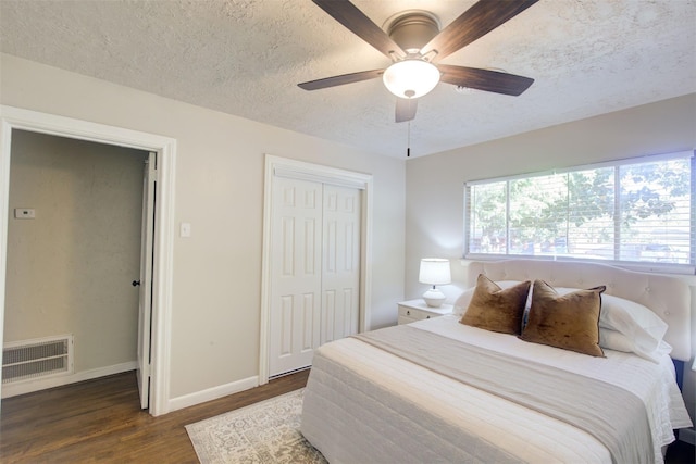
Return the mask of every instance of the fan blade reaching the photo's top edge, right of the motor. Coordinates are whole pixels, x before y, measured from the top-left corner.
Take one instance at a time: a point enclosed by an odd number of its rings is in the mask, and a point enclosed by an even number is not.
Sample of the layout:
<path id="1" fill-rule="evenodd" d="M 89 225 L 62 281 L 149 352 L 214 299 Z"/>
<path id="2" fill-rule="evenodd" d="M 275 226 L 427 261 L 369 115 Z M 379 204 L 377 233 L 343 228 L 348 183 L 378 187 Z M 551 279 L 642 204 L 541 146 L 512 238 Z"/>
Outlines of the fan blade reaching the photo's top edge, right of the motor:
<path id="1" fill-rule="evenodd" d="M 438 35 L 421 49 L 422 54 L 433 50 L 437 55 L 433 62 L 452 54 L 490 30 L 513 18 L 538 0 L 480 0 L 469 10 L 452 21 Z"/>

